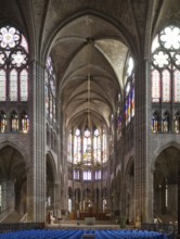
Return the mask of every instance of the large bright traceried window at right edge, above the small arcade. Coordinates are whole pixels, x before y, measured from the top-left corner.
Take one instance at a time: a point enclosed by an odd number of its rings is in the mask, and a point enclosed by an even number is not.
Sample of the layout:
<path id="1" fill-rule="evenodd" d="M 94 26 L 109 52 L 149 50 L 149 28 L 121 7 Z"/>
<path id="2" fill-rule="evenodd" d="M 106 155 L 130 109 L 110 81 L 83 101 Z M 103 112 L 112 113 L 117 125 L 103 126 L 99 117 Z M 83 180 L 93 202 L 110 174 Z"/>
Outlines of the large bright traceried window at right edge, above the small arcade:
<path id="1" fill-rule="evenodd" d="M 180 28 L 165 27 L 152 46 L 152 102 L 180 102 Z"/>

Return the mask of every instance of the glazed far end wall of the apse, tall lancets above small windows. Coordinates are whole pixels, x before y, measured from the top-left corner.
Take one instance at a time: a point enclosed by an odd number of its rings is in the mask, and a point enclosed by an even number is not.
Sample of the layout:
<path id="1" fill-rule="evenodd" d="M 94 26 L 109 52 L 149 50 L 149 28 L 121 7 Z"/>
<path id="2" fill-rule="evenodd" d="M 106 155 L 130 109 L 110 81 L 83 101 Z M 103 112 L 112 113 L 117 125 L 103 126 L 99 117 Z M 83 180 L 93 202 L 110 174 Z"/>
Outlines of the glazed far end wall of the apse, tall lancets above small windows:
<path id="1" fill-rule="evenodd" d="M 106 150 L 104 129 L 97 127 L 70 129 L 68 161 L 74 164 L 74 169 L 79 172 L 79 177 L 82 175 L 83 180 L 90 180 L 92 177 L 101 179 L 101 166 L 107 161 Z M 74 172 L 74 179 L 76 178 Z"/>

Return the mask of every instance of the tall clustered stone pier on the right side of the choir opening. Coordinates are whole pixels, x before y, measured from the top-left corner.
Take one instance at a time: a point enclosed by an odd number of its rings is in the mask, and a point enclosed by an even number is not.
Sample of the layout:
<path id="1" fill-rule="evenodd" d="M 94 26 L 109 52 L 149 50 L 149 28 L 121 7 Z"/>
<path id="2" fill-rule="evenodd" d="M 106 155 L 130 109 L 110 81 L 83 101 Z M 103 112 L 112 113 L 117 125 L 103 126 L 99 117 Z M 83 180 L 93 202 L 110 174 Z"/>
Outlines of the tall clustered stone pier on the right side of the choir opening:
<path id="1" fill-rule="evenodd" d="M 136 72 L 134 115 L 134 203 L 136 218 L 153 222 L 153 174 L 149 159 L 151 130 L 151 78 L 150 63 L 139 63 Z M 143 90 L 142 90 L 143 89 Z"/>

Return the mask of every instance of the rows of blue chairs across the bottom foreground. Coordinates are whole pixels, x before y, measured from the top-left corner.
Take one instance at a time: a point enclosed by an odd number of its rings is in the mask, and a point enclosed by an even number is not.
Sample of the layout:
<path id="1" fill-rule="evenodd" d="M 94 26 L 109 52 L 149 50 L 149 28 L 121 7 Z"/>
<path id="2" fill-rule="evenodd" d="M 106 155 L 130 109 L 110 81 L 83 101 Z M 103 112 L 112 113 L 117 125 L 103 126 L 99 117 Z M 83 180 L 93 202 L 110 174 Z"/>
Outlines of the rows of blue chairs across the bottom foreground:
<path id="1" fill-rule="evenodd" d="M 147 230 L 46 230 L 31 229 L 20 230 L 16 232 L 1 234 L 0 239 L 81 239 L 86 235 L 91 235 L 95 239 L 167 239 L 168 237 L 160 232 Z"/>

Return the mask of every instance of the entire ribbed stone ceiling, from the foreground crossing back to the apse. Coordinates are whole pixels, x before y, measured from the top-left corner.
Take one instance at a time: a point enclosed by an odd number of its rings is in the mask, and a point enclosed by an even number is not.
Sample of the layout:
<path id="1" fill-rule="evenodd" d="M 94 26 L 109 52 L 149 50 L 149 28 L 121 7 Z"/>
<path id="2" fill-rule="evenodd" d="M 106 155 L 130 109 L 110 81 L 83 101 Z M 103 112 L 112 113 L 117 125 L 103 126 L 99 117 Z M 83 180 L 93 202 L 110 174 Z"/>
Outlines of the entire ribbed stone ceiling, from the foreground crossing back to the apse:
<path id="1" fill-rule="evenodd" d="M 178 0 L 0 0 L 0 20 L 24 32 L 33 60 L 44 62 L 51 53 L 67 126 L 87 121 L 88 75 L 92 118 L 108 125 L 125 85 L 128 50 L 137 59 L 147 55 L 151 38 L 179 17 L 178 4 Z"/>

